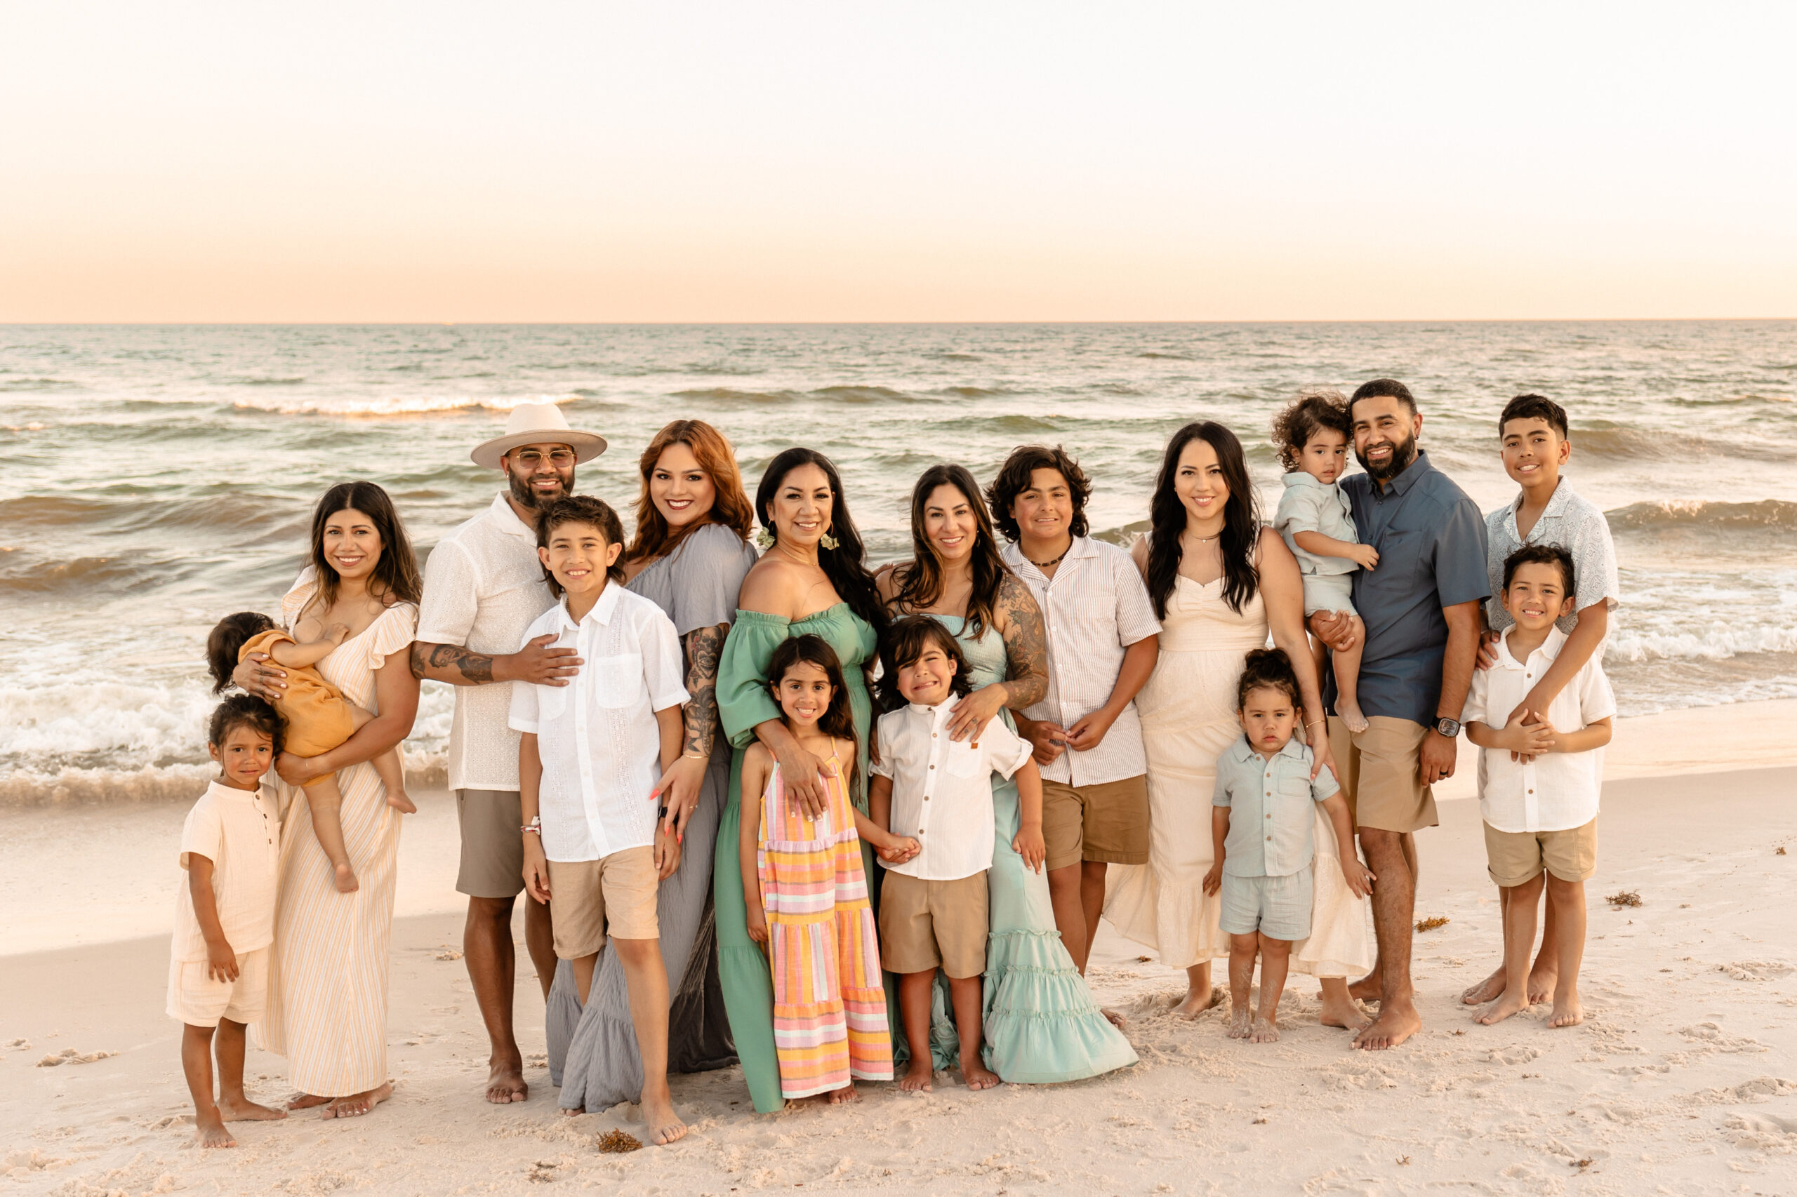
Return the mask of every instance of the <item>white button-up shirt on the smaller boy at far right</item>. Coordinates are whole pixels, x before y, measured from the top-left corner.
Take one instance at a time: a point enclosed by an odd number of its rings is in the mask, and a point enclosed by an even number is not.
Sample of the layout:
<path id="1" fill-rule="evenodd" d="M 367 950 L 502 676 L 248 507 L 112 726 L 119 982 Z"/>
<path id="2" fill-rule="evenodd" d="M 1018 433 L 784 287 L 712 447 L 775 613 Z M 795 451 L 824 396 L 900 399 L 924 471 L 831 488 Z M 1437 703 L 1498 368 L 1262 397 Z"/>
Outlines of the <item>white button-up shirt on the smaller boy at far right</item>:
<path id="1" fill-rule="evenodd" d="M 1558 627 L 1547 633 L 1540 649 L 1527 661 L 1509 654 L 1504 633 L 1492 669 L 1475 669 L 1472 692 L 1461 719 L 1502 726 L 1517 703 L 1535 688 L 1547 667 L 1560 656 L 1567 634 Z M 1598 656 L 1565 685 L 1547 706 L 1547 723 L 1556 732 L 1578 732 L 1616 714 L 1616 696 L 1610 679 L 1603 676 Z M 1508 749 L 1479 749 L 1479 814 L 1486 823 L 1504 832 L 1571 830 L 1598 818 L 1598 791 L 1603 789 L 1603 749 L 1585 753 L 1542 753 L 1533 762 L 1511 760 Z"/>

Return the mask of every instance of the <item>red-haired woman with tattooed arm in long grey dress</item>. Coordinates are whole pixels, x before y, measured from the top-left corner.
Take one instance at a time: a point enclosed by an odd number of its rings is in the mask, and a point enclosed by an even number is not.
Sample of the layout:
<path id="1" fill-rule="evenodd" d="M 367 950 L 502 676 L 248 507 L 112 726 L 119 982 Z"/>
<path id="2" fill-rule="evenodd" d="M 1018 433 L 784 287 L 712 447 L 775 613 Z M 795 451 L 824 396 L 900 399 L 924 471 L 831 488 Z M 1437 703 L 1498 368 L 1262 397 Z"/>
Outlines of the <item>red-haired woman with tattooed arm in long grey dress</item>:
<path id="1" fill-rule="evenodd" d="M 753 507 L 742 492 L 737 455 L 703 421 L 674 421 L 640 460 L 636 539 L 624 557 L 627 588 L 674 620 L 686 656 L 681 758 L 661 778 L 668 821 L 681 830 L 681 863 L 656 893 L 661 958 L 668 969 L 668 1071 L 695 1073 L 735 1060 L 717 983 L 712 922 L 712 850 L 724 793 L 730 740 L 717 724 L 717 658 L 737 611 L 742 577 L 755 564 L 748 543 Z M 645 796 L 647 800 L 647 796 Z M 602 1111 L 634 1102 L 643 1064 L 631 1028 L 624 969 L 606 953 L 586 1008 L 562 962 L 548 1005 L 550 1080 L 561 1107 Z"/>

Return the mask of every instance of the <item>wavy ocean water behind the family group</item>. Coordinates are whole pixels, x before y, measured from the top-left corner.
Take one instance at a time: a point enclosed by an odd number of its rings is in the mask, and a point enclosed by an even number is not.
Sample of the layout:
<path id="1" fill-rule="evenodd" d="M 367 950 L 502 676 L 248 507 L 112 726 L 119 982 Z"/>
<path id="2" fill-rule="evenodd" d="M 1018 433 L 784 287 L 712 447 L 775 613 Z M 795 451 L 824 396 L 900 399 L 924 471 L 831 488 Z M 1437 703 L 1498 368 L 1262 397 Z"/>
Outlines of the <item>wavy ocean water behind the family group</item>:
<path id="1" fill-rule="evenodd" d="M 751 489 L 780 449 L 823 449 L 884 561 L 924 467 L 987 480 L 1035 440 L 1080 457 L 1112 539 L 1197 417 L 1236 430 L 1272 503 L 1272 412 L 1378 376 L 1488 510 L 1513 494 L 1502 403 L 1567 406 L 1569 476 L 1621 557 L 1624 714 L 1797 696 L 1797 322 L 0 327 L 0 802 L 192 793 L 205 634 L 279 609 L 316 496 L 372 478 L 428 552 L 496 492 L 467 451 L 516 403 L 607 435 L 577 487 L 625 512 L 674 417 L 722 428 Z M 426 683 L 413 769 L 449 708 Z"/>

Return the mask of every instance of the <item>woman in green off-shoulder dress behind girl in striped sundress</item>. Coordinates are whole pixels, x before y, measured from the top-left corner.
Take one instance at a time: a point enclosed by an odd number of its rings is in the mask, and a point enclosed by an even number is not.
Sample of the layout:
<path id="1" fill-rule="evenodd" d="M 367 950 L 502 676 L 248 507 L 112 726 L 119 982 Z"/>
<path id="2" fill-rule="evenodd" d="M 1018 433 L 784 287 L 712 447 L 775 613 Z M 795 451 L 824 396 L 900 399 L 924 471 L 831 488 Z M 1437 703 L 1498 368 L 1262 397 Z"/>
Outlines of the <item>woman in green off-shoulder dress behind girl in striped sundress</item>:
<path id="1" fill-rule="evenodd" d="M 760 740 L 780 762 L 785 793 L 810 814 L 825 809 L 818 773 L 827 767 L 805 751 L 780 723 L 767 690 L 767 661 L 789 636 L 823 636 L 843 663 L 855 714 L 861 771 L 868 776 L 868 730 L 873 703 L 866 670 L 875 660 L 886 611 L 873 575 L 863 563 L 861 534 L 843 501 L 843 483 L 830 458 L 814 449 L 787 449 L 767 466 L 755 491 L 767 552 L 742 579 L 737 620 L 717 669 L 717 710 L 724 735 L 735 746 L 730 796 L 717 829 L 721 845 L 735 845 L 742 821 L 742 753 Z M 850 793 L 868 809 L 866 784 Z M 863 863 L 873 879 L 873 856 L 863 845 Z M 773 1113 L 780 1096 L 775 1059 L 773 976 L 762 949 L 749 938 L 742 904 L 742 863 L 721 850 L 712 863 L 712 902 L 717 917 L 717 971 L 730 1012 L 737 1059 L 755 1109 Z"/>

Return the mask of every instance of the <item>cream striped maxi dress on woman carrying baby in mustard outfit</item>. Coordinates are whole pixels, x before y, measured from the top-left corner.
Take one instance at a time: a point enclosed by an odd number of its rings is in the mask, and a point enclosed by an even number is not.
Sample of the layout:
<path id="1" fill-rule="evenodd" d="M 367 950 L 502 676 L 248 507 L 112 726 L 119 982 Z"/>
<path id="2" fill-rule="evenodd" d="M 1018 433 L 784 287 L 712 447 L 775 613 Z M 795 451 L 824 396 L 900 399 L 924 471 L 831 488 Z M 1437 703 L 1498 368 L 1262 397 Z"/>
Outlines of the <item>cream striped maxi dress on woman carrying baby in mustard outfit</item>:
<path id="1" fill-rule="evenodd" d="M 311 600 L 311 568 L 280 600 L 293 627 Z M 347 699 L 379 714 L 374 670 L 404 654 L 419 624 L 410 602 L 394 604 L 359 636 L 318 661 L 318 672 Z M 268 1006 L 257 1042 L 288 1057 L 293 1086 L 313 1096 L 350 1096 L 388 1080 L 386 987 L 394 938 L 394 888 L 401 814 L 372 764 L 338 771 L 343 791 L 343 845 L 361 888 L 338 893 L 331 859 L 318 847 L 300 789 L 282 785 L 280 890 Z"/>

